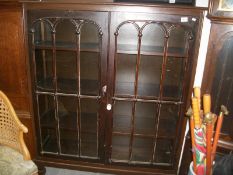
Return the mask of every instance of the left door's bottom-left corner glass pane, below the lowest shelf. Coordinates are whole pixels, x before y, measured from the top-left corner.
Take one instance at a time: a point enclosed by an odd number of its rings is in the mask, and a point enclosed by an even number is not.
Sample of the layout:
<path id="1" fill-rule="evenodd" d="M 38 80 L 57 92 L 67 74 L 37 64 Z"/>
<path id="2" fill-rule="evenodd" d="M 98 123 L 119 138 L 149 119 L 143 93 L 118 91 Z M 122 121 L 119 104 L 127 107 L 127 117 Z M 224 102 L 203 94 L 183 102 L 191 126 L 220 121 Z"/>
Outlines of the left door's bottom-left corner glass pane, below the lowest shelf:
<path id="1" fill-rule="evenodd" d="M 55 129 L 41 129 L 41 145 L 42 151 L 44 152 L 58 153 L 58 144 Z"/>

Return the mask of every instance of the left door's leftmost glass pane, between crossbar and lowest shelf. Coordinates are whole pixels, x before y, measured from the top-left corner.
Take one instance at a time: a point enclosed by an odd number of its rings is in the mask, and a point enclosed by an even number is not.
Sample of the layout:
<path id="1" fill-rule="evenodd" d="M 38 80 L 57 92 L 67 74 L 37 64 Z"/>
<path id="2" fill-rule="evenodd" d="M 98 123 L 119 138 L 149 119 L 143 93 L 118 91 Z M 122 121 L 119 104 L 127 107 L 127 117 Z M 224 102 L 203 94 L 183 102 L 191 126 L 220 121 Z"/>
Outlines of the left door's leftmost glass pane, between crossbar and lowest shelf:
<path id="1" fill-rule="evenodd" d="M 56 128 L 54 97 L 38 95 L 38 110 L 41 127 Z"/>

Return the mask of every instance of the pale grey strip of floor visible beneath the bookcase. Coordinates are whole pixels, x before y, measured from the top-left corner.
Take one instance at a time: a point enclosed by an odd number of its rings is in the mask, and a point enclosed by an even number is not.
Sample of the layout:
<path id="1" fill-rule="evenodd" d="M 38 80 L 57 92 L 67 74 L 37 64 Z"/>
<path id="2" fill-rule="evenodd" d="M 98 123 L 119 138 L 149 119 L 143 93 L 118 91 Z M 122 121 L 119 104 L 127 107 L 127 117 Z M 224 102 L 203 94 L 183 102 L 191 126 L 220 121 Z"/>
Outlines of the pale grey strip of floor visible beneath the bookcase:
<path id="1" fill-rule="evenodd" d="M 75 170 L 46 167 L 46 175 L 111 175 L 111 174 L 91 173 L 85 171 L 75 171 Z"/>

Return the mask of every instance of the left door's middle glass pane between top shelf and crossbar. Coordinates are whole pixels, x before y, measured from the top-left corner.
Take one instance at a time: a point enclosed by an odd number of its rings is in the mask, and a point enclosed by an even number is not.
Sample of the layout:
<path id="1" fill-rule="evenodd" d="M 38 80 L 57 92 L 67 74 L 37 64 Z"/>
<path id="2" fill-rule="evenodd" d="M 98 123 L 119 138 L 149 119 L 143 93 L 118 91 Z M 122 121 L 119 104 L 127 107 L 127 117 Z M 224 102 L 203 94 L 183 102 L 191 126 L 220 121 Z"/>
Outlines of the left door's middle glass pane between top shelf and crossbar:
<path id="1" fill-rule="evenodd" d="M 59 92 L 77 91 L 76 53 L 56 51 L 57 88 Z"/>

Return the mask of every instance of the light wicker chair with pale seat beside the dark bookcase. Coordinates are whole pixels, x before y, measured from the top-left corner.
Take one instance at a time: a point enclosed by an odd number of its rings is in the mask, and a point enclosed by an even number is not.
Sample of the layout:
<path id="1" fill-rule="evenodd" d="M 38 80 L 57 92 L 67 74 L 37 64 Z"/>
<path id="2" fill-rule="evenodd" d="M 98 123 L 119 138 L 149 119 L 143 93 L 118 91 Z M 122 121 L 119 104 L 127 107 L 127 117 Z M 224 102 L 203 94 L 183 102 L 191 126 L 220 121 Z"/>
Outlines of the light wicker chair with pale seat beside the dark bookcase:
<path id="1" fill-rule="evenodd" d="M 11 102 L 0 91 L 0 175 L 38 174 L 23 139 L 27 132 Z"/>

